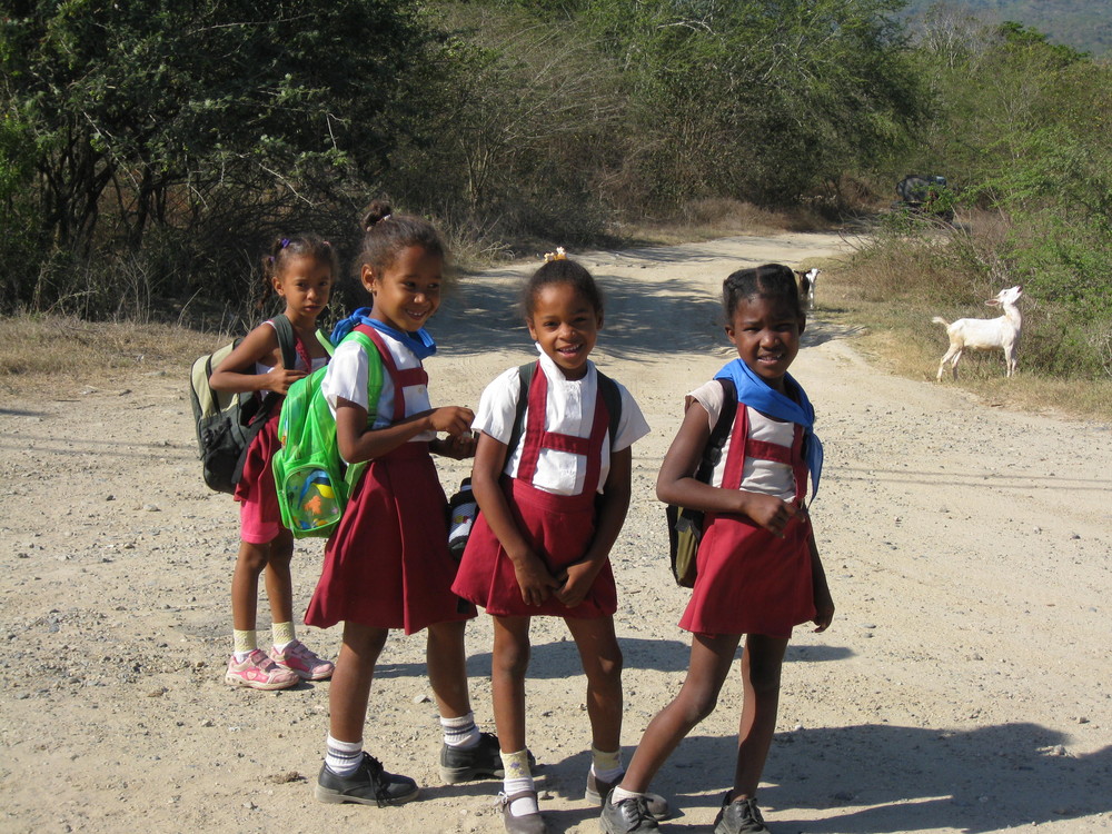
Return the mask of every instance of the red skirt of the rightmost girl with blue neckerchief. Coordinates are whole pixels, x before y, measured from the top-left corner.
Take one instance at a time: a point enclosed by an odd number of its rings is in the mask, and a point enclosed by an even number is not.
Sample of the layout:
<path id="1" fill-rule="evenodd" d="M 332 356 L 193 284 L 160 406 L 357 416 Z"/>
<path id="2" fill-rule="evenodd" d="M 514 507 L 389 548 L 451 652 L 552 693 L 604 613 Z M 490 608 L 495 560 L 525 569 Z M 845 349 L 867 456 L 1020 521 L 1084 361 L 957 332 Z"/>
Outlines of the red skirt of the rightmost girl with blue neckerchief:
<path id="1" fill-rule="evenodd" d="M 745 516 L 707 516 L 695 588 L 679 627 L 791 637 L 794 626 L 815 616 L 810 532 L 811 522 L 802 515 L 783 538 Z"/>

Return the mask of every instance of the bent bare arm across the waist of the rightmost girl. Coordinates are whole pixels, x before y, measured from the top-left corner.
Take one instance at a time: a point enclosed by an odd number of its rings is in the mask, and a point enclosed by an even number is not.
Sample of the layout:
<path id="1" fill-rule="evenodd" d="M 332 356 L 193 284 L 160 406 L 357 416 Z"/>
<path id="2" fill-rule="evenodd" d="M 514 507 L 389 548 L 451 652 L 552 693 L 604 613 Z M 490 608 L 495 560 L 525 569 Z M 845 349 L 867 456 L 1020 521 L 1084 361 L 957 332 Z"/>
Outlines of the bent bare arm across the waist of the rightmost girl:
<path id="1" fill-rule="evenodd" d="M 656 478 L 656 497 L 667 504 L 701 509 L 704 513 L 728 513 L 748 516 L 770 533 L 780 536 L 798 508 L 774 495 L 745 489 L 722 489 L 695 479 L 703 449 L 711 438 L 707 411 L 698 400 L 692 400 L 684 414 L 676 439 L 672 441 L 661 474 Z"/>

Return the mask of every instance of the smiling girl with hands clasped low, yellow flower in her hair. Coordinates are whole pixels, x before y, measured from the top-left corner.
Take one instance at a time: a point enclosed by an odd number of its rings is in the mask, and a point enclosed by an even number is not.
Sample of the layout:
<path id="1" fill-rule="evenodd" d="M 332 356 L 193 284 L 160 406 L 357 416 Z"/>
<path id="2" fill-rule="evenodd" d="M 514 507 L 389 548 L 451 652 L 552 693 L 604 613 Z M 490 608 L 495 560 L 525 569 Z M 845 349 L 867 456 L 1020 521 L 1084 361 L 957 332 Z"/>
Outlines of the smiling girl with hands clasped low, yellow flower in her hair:
<path id="1" fill-rule="evenodd" d="M 471 475 L 480 512 L 453 589 L 494 617 L 503 818 L 510 834 L 538 834 L 545 823 L 525 743 L 530 617 L 563 617 L 583 661 L 588 798 L 598 802 L 622 776 L 622 653 L 608 556 L 629 506 L 631 446 L 648 425 L 629 393 L 587 358 L 603 304 L 586 269 L 560 252 L 529 279 L 524 301 L 540 357 L 526 391 L 510 368 L 483 393 Z"/>

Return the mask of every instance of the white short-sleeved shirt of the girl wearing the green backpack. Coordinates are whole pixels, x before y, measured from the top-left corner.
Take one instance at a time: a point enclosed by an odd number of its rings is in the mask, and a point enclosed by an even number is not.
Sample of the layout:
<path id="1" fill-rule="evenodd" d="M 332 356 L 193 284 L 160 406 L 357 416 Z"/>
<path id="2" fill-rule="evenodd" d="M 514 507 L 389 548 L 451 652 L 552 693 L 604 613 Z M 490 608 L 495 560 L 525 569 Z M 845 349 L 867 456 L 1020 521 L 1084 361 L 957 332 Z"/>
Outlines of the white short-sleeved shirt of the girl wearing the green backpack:
<path id="1" fill-rule="evenodd" d="M 405 344 L 398 341 L 389 334 L 379 331 L 383 342 L 394 357 L 394 364 L 398 370 L 421 367 L 420 359 Z M 355 403 L 357 406 L 367 408 L 367 369 L 369 358 L 367 351 L 363 349 L 355 339 L 341 341 L 332 360 L 328 363 L 328 371 L 320 384 L 320 391 L 328 401 L 328 407 L 336 415 L 336 400 L 340 397 Z M 410 417 L 420 411 L 427 411 L 433 406 L 428 398 L 428 387 L 424 385 L 407 386 L 404 389 L 406 401 L 405 416 Z M 386 428 L 394 421 L 394 380 L 383 363 L 383 393 L 378 397 L 378 405 L 375 409 L 375 423 L 373 428 Z M 427 443 L 436 438 L 435 431 L 421 431 L 410 438 L 410 443 Z"/>

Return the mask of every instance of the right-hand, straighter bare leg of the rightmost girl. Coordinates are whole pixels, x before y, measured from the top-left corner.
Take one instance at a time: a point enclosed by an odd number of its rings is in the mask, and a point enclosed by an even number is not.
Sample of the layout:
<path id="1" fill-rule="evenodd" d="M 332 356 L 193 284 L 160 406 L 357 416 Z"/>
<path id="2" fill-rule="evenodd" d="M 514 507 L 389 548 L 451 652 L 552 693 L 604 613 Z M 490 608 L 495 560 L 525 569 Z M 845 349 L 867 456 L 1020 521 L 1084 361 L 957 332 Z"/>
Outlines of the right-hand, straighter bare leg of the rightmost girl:
<path id="1" fill-rule="evenodd" d="M 742 655 L 745 701 L 737 733 L 737 768 L 731 800 L 756 796 L 776 731 L 780 673 L 784 666 L 786 649 L 786 637 L 751 634 L 745 638 L 745 654 Z"/>

